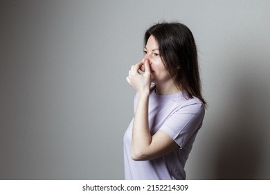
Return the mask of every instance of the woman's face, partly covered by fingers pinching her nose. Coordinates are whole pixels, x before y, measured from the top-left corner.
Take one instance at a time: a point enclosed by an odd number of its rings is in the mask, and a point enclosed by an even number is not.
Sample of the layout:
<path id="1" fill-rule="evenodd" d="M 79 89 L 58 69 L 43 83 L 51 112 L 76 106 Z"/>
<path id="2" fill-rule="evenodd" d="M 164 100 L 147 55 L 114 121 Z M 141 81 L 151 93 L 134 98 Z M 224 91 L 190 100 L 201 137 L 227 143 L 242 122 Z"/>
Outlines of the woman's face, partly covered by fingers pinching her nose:
<path id="1" fill-rule="evenodd" d="M 149 37 L 143 51 L 145 56 L 142 59 L 142 62 L 144 63 L 145 60 L 149 60 L 152 82 L 156 85 L 168 82 L 170 80 L 170 76 L 168 70 L 163 64 L 163 61 L 161 60 L 159 44 L 156 42 L 154 36 L 151 35 Z"/>

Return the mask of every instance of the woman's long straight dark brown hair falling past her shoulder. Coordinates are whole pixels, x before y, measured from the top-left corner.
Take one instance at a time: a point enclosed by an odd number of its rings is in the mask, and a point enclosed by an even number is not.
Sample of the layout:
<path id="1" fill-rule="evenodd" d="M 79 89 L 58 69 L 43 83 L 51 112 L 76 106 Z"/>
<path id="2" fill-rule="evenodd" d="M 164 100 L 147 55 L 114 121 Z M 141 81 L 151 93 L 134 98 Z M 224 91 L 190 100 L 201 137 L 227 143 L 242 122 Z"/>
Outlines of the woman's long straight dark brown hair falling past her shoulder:
<path id="1" fill-rule="evenodd" d="M 159 53 L 174 85 L 206 105 L 201 95 L 197 48 L 190 29 L 178 22 L 155 24 L 145 32 L 145 45 L 151 35 L 159 44 Z"/>

